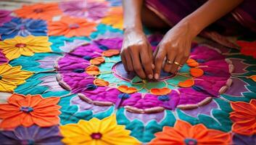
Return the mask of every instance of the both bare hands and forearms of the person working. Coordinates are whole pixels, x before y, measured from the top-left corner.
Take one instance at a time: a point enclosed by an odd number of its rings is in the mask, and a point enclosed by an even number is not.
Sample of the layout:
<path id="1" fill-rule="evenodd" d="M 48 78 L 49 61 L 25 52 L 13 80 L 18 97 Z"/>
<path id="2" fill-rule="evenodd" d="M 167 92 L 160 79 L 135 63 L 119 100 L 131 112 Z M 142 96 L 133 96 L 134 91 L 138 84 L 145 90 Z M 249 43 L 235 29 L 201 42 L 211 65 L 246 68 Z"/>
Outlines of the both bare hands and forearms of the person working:
<path id="1" fill-rule="evenodd" d="M 143 0 L 123 0 L 124 41 L 121 59 L 125 70 L 136 72 L 140 78 L 159 79 L 160 71 L 176 73 L 178 62 L 189 58 L 191 41 L 212 22 L 241 4 L 243 0 L 209 0 L 196 11 L 170 28 L 168 24 L 146 9 Z M 218 8 L 218 9 L 216 9 Z M 151 28 L 169 28 L 152 54 L 152 48 L 142 30 L 142 22 Z M 167 63 L 170 60 L 172 64 Z"/>

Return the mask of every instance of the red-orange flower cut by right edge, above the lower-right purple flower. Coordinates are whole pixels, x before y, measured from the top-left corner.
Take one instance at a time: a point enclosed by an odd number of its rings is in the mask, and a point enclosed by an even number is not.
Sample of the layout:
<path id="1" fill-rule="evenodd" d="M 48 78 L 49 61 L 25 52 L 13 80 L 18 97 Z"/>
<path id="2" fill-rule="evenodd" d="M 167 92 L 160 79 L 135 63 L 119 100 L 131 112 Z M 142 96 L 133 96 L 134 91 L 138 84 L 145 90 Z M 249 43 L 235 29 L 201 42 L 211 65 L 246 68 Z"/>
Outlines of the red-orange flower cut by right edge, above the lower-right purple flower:
<path id="1" fill-rule="evenodd" d="M 256 99 L 247 102 L 231 102 L 234 112 L 230 113 L 230 118 L 234 122 L 232 131 L 243 135 L 256 133 Z"/>

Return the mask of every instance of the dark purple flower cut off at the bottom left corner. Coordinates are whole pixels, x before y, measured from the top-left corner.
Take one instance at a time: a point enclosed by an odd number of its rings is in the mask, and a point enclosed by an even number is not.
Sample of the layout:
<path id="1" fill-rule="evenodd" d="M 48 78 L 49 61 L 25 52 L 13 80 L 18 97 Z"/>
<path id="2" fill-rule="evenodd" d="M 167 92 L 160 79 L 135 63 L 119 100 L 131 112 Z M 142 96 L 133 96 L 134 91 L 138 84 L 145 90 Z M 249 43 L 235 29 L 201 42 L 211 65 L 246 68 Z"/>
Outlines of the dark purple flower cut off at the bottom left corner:
<path id="1" fill-rule="evenodd" d="M 15 130 L 0 132 L 1 144 L 57 144 L 62 145 L 57 125 L 40 128 L 32 125 L 29 128 L 18 126 Z"/>

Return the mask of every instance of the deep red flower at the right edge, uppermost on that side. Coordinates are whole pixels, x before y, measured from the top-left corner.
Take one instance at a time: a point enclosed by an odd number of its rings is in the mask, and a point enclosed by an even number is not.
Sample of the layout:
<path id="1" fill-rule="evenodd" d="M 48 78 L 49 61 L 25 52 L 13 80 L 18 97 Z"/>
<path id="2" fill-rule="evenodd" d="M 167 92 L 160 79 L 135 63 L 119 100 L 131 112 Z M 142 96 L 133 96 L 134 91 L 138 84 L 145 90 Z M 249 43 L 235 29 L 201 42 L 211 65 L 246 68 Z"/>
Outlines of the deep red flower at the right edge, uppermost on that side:
<path id="1" fill-rule="evenodd" d="M 256 41 L 236 41 L 236 43 L 241 47 L 241 54 L 256 58 Z"/>

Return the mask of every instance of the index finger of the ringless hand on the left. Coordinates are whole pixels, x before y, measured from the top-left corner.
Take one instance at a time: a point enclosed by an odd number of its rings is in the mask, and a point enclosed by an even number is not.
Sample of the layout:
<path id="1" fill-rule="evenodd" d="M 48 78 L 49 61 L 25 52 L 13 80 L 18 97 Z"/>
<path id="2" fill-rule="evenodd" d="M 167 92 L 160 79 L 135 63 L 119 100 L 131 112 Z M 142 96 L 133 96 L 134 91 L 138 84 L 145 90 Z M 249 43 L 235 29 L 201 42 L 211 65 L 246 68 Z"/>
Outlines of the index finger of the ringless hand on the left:
<path id="1" fill-rule="evenodd" d="M 144 67 L 146 76 L 149 79 L 152 79 L 153 78 L 152 59 L 149 56 L 148 49 L 141 49 L 140 57 L 141 57 L 141 64 Z"/>

